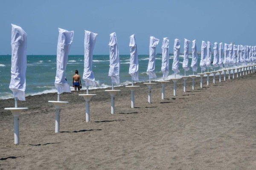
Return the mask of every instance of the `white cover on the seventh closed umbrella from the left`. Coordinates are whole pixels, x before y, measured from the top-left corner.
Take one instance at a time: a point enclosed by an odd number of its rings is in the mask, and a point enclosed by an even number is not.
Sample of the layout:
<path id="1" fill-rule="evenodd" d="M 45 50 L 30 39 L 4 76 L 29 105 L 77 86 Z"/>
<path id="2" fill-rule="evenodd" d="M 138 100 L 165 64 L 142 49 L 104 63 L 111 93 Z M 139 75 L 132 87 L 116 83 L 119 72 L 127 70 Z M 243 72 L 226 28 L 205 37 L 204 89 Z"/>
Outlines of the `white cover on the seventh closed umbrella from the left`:
<path id="1" fill-rule="evenodd" d="M 163 77 L 167 77 L 169 74 L 169 38 L 163 38 L 162 44 L 162 67 L 161 71 Z"/>

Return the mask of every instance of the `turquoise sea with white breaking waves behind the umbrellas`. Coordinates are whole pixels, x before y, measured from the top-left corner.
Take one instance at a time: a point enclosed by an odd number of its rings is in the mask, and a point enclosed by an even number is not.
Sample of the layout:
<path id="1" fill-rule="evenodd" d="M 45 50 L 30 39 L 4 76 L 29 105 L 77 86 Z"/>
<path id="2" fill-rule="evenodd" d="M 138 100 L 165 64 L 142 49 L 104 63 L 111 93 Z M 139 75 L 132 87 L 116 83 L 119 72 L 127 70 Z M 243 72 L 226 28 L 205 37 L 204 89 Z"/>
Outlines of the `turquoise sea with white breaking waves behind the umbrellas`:
<path id="1" fill-rule="evenodd" d="M 119 55 L 120 57 L 120 85 L 131 84 L 131 76 L 129 75 L 130 55 Z M 182 68 L 183 54 L 179 57 L 180 73 L 176 77 L 184 75 Z M 198 55 L 198 71 L 201 72 L 199 62 L 200 55 Z M 11 55 L 0 55 L 0 99 L 13 98 L 12 91 L 9 89 L 11 80 Z M 146 73 L 148 67 L 148 55 L 139 55 L 139 80 L 140 82 L 149 81 L 148 74 Z M 191 65 L 192 55 L 189 54 L 189 66 Z M 173 78 L 174 72 L 172 71 L 173 54 L 169 54 L 169 76 L 165 80 Z M 162 55 L 156 55 L 155 73 L 156 79 L 152 81 L 163 80 L 161 72 Z M 212 71 L 213 68 L 209 68 Z M 75 70 L 79 71 L 82 77 L 84 72 L 84 55 L 69 55 L 66 69 L 67 82 L 70 85 L 71 91 L 74 90 L 72 85 L 73 75 Z M 97 87 L 92 88 L 108 88 L 111 87 L 111 77 L 108 77 L 109 71 L 109 55 L 93 55 L 93 72 L 95 80 L 98 84 Z M 186 75 L 192 74 L 192 68 L 186 71 Z M 197 74 L 197 73 L 195 73 Z M 55 88 L 56 76 L 56 55 L 28 55 L 27 56 L 27 69 L 26 69 L 26 96 L 33 96 L 37 94 L 47 94 L 57 92 Z M 82 89 L 85 89 L 85 82 L 81 79 Z M 117 85 L 115 85 L 116 87 Z"/>

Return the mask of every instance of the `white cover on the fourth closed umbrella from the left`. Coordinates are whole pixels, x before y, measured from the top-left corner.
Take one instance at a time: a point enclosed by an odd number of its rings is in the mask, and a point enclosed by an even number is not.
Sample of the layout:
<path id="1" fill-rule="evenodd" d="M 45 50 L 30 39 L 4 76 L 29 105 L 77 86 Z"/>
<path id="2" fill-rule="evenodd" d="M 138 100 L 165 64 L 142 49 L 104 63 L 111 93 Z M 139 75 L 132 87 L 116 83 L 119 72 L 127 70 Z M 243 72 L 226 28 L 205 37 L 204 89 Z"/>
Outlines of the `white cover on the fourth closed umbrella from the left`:
<path id="1" fill-rule="evenodd" d="M 115 32 L 110 34 L 110 41 L 108 45 L 109 45 L 109 62 L 110 62 L 108 76 L 111 77 L 112 83 L 120 84 L 120 79 L 119 79 L 120 59 L 119 59 L 119 51 L 117 47 Z"/>

